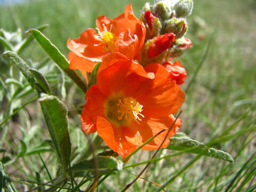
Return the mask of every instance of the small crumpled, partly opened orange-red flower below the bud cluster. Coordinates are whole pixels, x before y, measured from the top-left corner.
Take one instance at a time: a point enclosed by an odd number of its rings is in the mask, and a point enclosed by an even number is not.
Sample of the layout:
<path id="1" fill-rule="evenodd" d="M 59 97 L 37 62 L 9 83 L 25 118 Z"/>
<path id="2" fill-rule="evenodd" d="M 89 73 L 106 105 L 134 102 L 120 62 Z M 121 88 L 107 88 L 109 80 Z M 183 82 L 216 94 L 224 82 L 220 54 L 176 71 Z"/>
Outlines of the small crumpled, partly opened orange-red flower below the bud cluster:
<path id="1" fill-rule="evenodd" d="M 170 80 L 175 81 L 178 85 L 185 83 L 184 79 L 187 77 L 187 71 L 180 61 L 176 60 L 174 63 L 165 62 L 163 66 L 170 73 Z"/>

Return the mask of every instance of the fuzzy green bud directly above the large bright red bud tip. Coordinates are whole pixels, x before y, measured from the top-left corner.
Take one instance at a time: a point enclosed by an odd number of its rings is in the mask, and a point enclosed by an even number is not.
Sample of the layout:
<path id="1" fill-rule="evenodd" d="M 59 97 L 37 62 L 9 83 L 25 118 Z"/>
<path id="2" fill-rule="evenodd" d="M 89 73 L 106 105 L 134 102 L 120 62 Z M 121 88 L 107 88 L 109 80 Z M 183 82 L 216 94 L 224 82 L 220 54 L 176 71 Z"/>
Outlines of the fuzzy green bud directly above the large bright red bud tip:
<path id="1" fill-rule="evenodd" d="M 174 33 L 175 39 L 182 37 L 187 31 L 187 22 L 182 18 L 172 18 L 164 22 L 163 33 Z"/>

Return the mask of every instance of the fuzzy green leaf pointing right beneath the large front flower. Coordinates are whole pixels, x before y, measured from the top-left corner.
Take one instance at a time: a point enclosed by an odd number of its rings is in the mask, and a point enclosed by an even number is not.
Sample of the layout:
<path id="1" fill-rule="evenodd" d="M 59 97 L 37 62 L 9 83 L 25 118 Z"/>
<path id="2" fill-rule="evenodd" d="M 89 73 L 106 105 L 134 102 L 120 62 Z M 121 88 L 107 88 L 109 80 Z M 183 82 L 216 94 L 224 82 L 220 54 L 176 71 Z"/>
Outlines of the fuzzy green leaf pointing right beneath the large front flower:
<path id="1" fill-rule="evenodd" d="M 209 148 L 204 143 L 198 142 L 196 140 L 192 140 L 188 137 L 172 137 L 170 139 L 170 145 L 167 149 L 172 150 L 186 150 L 188 149 L 188 153 L 194 153 L 199 155 L 205 155 L 213 158 L 219 158 L 224 161 L 234 162 L 234 159 L 226 152 Z M 189 150 L 190 149 L 190 150 Z"/>

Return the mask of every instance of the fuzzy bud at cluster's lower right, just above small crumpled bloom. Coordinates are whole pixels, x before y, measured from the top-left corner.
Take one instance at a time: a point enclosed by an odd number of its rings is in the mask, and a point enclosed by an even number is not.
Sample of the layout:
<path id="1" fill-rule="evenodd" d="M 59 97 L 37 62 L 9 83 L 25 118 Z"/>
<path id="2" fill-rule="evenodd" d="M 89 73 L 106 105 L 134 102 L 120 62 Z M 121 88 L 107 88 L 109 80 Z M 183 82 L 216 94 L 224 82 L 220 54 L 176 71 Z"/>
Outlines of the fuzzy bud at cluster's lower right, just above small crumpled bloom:
<path id="1" fill-rule="evenodd" d="M 168 56 L 169 57 L 180 57 L 185 51 L 187 51 L 192 46 L 192 42 L 190 39 L 186 37 L 182 37 L 176 39 L 173 42 L 173 46 L 171 47 Z"/>

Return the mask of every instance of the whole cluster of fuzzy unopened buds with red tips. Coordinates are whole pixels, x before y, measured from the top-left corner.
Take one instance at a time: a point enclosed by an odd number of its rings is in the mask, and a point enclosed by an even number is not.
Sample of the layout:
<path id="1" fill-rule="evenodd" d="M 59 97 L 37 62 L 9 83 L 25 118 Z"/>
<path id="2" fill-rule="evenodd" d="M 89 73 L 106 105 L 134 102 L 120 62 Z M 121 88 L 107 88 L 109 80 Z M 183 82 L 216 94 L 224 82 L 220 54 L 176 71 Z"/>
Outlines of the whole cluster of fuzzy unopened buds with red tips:
<path id="1" fill-rule="evenodd" d="M 180 57 L 191 46 L 185 37 L 188 29 L 186 17 L 193 10 L 193 0 L 162 0 L 154 5 L 146 3 L 140 19 L 146 26 L 146 42 L 140 63 L 164 63 Z"/>

